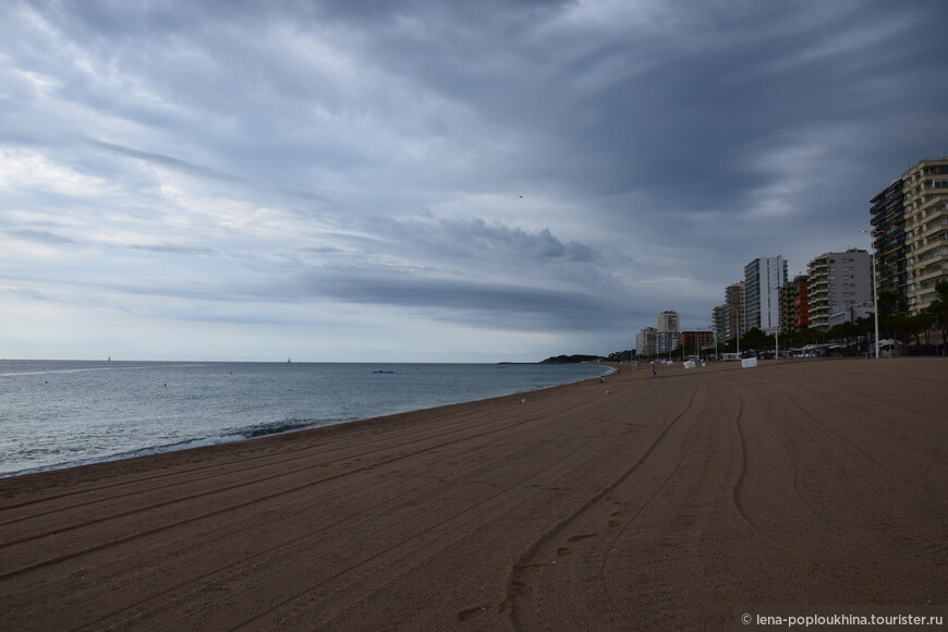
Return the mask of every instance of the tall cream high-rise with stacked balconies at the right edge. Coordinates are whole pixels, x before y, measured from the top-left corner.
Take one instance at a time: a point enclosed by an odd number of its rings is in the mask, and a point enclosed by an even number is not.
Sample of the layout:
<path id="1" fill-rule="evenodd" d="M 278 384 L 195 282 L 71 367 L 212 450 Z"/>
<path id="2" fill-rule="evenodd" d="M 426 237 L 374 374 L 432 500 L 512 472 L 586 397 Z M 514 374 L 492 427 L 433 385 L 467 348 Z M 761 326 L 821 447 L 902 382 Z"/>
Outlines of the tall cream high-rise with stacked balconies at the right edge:
<path id="1" fill-rule="evenodd" d="M 948 280 L 948 157 L 920 160 L 902 175 L 909 315 L 922 313 Z"/>

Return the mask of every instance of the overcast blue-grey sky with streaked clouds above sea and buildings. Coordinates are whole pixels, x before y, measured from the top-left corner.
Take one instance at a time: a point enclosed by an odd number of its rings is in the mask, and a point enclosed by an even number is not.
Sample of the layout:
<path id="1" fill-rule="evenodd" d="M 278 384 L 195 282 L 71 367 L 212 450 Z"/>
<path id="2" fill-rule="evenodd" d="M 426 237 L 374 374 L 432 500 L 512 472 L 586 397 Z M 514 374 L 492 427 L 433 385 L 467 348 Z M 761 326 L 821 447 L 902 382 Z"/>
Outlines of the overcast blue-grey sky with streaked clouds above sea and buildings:
<path id="1" fill-rule="evenodd" d="M 0 357 L 494 362 L 710 325 L 948 155 L 939 0 L 0 4 Z"/>

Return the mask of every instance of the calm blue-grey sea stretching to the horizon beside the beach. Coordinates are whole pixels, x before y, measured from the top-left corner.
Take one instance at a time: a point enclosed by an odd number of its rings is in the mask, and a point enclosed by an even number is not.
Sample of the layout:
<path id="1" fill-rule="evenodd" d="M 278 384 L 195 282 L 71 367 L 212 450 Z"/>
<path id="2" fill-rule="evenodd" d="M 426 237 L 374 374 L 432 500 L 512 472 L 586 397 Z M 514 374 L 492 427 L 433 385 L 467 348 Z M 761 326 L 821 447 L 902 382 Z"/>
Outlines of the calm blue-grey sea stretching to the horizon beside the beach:
<path id="1" fill-rule="evenodd" d="M 0 477 L 537 390 L 585 364 L 0 361 Z"/>

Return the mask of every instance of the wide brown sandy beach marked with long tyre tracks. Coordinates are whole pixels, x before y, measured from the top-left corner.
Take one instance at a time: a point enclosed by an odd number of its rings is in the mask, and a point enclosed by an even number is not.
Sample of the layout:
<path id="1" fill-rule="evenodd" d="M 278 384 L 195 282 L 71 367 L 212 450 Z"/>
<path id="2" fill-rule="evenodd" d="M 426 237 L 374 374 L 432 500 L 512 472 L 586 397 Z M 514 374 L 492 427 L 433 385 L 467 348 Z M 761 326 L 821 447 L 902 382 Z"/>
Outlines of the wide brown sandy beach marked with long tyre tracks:
<path id="1" fill-rule="evenodd" d="M 946 403 L 940 358 L 623 367 L 0 479 L 0 628 L 715 630 L 748 606 L 945 605 Z"/>

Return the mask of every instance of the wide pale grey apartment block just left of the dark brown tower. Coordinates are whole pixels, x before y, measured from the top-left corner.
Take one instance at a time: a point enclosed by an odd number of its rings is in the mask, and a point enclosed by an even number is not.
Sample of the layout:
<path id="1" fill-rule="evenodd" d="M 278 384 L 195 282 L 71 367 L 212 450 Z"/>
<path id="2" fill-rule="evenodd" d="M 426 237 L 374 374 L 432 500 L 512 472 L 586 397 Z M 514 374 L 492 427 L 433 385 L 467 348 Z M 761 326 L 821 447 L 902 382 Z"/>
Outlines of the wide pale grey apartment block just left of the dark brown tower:
<path id="1" fill-rule="evenodd" d="M 824 253 L 807 266 L 810 277 L 810 323 L 813 329 L 830 328 L 830 316 L 847 307 L 871 305 L 872 268 L 865 251 Z"/>

